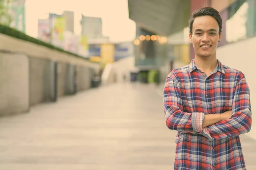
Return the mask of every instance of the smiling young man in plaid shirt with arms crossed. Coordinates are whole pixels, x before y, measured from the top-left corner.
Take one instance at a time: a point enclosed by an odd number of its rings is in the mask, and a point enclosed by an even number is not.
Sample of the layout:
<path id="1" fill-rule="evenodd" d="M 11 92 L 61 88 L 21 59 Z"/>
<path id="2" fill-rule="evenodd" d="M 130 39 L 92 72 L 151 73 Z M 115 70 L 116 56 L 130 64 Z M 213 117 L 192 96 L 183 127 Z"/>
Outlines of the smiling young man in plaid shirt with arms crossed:
<path id="1" fill-rule="evenodd" d="M 244 74 L 216 57 L 221 27 L 214 8 L 195 11 L 195 59 L 166 78 L 166 125 L 178 131 L 175 170 L 246 170 L 239 135 L 251 128 L 250 91 Z"/>

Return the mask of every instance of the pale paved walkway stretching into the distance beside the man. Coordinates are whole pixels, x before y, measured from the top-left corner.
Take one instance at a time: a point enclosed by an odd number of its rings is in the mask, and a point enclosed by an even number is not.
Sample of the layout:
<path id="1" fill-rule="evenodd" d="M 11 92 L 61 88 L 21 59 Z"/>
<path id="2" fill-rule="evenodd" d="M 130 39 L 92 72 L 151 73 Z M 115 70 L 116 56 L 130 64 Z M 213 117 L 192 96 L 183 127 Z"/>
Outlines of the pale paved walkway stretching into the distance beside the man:
<path id="1" fill-rule="evenodd" d="M 0 170 L 172 170 L 175 136 L 153 86 L 110 85 L 0 118 Z M 256 142 L 241 138 L 255 170 Z"/>

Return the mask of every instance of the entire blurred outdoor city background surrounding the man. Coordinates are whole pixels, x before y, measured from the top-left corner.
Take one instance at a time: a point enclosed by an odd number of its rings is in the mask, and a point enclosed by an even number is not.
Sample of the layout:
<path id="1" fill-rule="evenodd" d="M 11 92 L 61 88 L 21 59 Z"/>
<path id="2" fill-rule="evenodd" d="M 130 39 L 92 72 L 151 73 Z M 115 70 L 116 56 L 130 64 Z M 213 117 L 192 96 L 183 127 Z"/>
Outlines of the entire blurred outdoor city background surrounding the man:
<path id="1" fill-rule="evenodd" d="M 0 0 L 0 170 L 172 169 L 163 86 L 194 58 L 188 20 L 206 6 L 254 111 L 256 0 Z"/>

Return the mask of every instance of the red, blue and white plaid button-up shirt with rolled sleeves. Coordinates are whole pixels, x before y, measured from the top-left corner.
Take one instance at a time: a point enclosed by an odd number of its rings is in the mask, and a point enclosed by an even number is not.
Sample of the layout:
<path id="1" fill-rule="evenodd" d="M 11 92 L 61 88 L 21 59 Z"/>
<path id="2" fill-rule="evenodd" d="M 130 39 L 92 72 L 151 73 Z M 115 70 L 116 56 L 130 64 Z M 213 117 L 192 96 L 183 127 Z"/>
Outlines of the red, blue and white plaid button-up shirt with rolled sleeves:
<path id="1" fill-rule="evenodd" d="M 207 77 L 193 59 L 166 78 L 164 107 L 167 127 L 178 131 L 175 170 L 246 170 L 239 135 L 250 131 L 252 120 L 241 71 L 218 60 Z M 230 119 L 202 128 L 206 114 L 228 110 Z"/>

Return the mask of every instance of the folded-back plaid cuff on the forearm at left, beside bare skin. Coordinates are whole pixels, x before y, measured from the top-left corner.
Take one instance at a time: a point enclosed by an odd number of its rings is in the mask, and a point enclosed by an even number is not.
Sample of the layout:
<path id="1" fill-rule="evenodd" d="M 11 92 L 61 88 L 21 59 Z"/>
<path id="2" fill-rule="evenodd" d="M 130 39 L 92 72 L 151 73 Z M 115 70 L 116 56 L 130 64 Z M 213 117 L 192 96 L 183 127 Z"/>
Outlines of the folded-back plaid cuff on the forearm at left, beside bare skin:
<path id="1" fill-rule="evenodd" d="M 201 131 L 203 130 L 202 125 L 204 122 L 204 113 L 201 113 L 201 112 L 192 113 L 191 121 L 192 121 L 192 127 L 195 134 L 201 133 Z"/>

